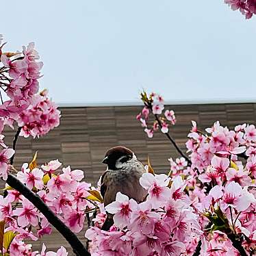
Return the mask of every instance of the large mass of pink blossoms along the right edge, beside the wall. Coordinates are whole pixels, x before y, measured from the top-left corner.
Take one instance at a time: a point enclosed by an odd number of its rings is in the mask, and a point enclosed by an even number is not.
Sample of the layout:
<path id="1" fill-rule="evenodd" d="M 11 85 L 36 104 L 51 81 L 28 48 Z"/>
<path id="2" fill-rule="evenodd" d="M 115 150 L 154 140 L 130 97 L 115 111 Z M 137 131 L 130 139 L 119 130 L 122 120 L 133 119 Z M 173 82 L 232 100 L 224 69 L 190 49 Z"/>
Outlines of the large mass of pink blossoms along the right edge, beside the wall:
<path id="1" fill-rule="evenodd" d="M 206 235 L 205 255 L 216 249 L 221 252 L 216 255 L 239 255 L 227 238 L 229 229 L 249 253 L 255 252 L 255 126 L 243 124 L 229 130 L 217 121 L 203 132 L 192 121 L 188 137 L 192 165 L 182 172 L 190 199 L 196 200 L 194 207 L 212 223 L 213 218 L 225 219 L 222 227 L 215 225 L 216 230 Z"/>

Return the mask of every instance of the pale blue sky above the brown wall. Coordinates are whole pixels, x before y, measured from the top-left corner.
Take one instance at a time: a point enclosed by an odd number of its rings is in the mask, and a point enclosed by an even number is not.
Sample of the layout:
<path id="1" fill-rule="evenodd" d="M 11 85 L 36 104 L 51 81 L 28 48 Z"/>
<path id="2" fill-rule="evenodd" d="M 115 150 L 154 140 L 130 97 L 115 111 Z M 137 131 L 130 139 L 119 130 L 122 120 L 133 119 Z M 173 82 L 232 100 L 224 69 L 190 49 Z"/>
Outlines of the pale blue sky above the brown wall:
<path id="1" fill-rule="evenodd" d="M 256 17 L 224 1 L 32 1 L 1 5 L 5 50 L 36 42 L 57 103 L 256 101 Z"/>

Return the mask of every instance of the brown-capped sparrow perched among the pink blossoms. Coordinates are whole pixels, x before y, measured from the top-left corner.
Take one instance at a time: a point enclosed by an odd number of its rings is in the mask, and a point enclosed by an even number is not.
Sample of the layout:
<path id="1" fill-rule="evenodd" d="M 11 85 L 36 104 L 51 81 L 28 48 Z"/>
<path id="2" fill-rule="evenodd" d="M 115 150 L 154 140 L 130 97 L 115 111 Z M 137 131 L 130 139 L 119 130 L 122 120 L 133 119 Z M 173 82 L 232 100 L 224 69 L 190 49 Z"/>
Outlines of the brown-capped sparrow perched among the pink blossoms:
<path id="1" fill-rule="evenodd" d="M 114 202 L 118 192 L 127 195 L 129 199 L 134 199 L 137 203 L 144 201 L 147 191 L 140 185 L 140 177 L 146 170 L 131 149 L 114 146 L 105 153 L 102 162 L 107 164 L 107 170 L 101 176 L 101 196 L 104 206 Z M 108 231 L 113 224 L 113 215 L 107 213 L 101 230 Z"/>

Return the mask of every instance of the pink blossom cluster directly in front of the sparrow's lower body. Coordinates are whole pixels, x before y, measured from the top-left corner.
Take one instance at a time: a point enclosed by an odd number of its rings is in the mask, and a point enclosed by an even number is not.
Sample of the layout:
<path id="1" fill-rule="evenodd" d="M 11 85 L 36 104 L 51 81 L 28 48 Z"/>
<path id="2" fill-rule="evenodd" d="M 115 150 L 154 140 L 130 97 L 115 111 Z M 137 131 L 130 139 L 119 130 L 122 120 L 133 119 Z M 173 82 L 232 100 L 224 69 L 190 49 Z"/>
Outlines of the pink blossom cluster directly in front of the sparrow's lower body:
<path id="1" fill-rule="evenodd" d="M 137 203 L 118 192 L 116 201 L 105 207 L 114 214 L 110 231 L 101 231 L 99 223 L 86 231 L 92 256 L 181 255 L 203 233 L 181 177 L 171 180 L 147 172 L 140 185 L 149 193 L 146 201 Z"/>

